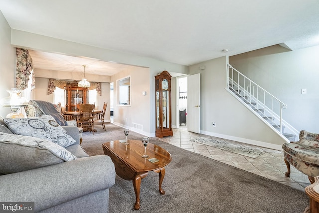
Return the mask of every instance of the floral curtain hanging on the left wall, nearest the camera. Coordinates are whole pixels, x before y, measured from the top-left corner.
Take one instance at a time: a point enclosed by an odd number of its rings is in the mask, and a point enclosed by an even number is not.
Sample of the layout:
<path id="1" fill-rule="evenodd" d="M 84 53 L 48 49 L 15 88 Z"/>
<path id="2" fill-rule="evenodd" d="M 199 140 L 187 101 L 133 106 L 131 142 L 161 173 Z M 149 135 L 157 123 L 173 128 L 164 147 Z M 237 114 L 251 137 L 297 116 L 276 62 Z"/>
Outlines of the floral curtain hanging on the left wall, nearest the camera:
<path id="1" fill-rule="evenodd" d="M 33 68 L 32 58 L 27 49 L 16 48 L 16 88 L 28 88 L 30 74 Z M 32 87 L 35 85 L 35 78 L 32 75 Z"/>

